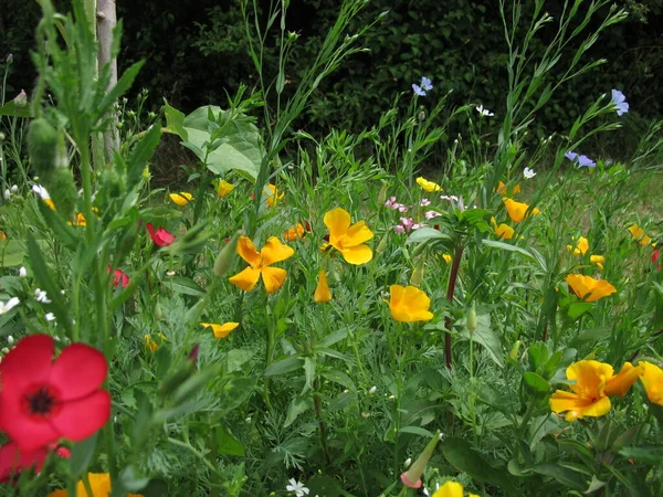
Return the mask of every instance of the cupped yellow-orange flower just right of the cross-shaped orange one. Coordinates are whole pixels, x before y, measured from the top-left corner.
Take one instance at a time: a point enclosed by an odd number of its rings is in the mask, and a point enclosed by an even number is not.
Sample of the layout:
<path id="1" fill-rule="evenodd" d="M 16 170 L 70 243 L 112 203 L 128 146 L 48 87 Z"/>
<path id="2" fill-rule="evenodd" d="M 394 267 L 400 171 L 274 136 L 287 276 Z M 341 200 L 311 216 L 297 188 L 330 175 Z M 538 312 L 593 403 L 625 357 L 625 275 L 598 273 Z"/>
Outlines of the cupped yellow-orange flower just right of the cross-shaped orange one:
<path id="1" fill-rule="evenodd" d="M 329 229 L 329 245 L 339 251 L 347 263 L 359 265 L 372 258 L 372 251 L 365 242 L 372 239 L 373 233 L 364 221 L 350 226 L 350 214 L 336 208 L 325 214 L 324 222 Z"/>

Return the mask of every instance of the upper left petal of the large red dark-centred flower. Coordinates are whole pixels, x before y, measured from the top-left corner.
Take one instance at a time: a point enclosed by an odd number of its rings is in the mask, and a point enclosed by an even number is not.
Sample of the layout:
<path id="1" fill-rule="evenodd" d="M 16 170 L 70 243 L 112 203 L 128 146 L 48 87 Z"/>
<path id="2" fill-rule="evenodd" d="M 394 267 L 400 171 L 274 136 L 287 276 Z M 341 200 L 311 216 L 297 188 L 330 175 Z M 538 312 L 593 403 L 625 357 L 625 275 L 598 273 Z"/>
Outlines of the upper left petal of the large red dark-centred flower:
<path id="1" fill-rule="evenodd" d="M 2 383 L 22 390 L 44 381 L 51 371 L 52 360 L 53 339 L 48 335 L 30 335 L 0 362 Z"/>

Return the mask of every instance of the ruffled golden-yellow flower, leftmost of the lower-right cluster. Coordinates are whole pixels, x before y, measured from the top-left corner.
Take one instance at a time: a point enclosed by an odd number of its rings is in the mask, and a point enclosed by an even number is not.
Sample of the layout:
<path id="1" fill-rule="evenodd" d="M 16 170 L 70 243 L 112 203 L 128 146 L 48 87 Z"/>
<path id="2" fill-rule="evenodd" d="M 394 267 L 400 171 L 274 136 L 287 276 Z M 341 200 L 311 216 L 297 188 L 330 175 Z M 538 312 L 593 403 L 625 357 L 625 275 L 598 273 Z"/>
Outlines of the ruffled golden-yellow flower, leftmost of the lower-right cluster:
<path id="1" fill-rule="evenodd" d="M 606 382 L 612 378 L 612 366 L 599 361 L 579 361 L 567 368 L 567 380 L 572 392 L 557 390 L 550 396 L 550 409 L 556 413 L 567 412 L 567 421 L 583 416 L 602 416 L 610 411 L 610 399 Z"/>

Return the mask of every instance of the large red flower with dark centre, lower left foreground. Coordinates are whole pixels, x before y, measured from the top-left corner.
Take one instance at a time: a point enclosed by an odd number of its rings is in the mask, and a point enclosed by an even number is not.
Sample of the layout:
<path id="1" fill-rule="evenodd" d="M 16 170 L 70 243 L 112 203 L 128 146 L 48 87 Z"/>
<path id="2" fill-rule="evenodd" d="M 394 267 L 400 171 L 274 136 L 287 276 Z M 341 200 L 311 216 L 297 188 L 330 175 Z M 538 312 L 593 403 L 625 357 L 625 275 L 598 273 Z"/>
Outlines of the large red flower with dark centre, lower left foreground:
<path id="1" fill-rule="evenodd" d="M 53 360 L 53 338 L 23 338 L 0 362 L 0 430 L 25 453 L 59 438 L 87 438 L 110 416 L 110 395 L 99 387 L 106 358 L 72 343 Z"/>

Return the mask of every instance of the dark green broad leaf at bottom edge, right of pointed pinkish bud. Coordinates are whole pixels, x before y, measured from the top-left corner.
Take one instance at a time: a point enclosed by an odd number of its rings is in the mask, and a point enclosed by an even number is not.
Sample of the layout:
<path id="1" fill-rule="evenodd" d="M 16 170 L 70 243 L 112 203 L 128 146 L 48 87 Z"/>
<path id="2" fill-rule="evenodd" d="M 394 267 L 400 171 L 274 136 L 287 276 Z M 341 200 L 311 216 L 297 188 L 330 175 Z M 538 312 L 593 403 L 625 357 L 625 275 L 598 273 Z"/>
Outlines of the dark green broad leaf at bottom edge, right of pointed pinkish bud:
<path id="1" fill-rule="evenodd" d="M 495 468 L 486 462 L 469 442 L 463 438 L 449 437 L 442 442 L 444 457 L 453 467 L 465 472 L 472 478 L 495 485 L 508 496 L 520 496 L 520 491 L 507 476 L 505 468 Z"/>

